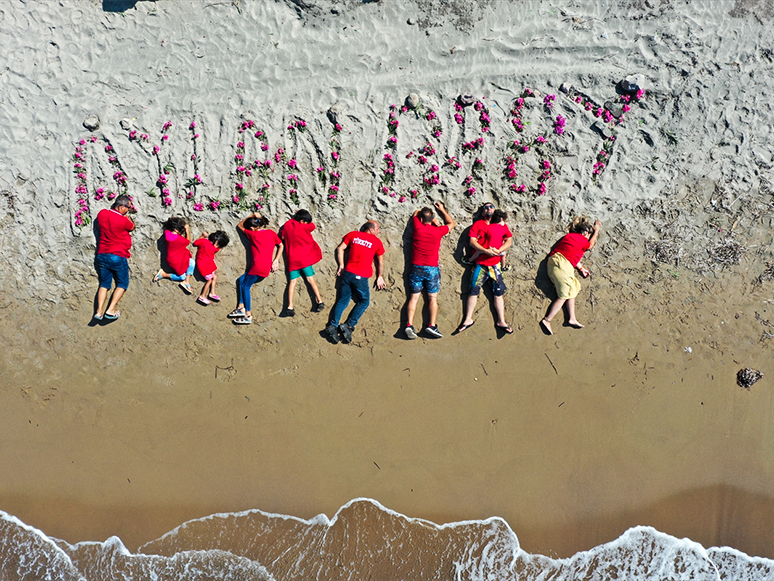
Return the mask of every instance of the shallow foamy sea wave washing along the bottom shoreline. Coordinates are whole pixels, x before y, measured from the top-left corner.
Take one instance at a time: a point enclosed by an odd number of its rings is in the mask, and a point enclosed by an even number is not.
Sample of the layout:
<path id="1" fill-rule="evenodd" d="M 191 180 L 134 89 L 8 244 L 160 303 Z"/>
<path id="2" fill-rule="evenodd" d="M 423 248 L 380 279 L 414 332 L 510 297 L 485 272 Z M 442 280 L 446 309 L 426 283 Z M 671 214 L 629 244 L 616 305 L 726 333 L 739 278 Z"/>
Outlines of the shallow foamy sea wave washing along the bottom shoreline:
<path id="1" fill-rule="evenodd" d="M 774 561 L 705 549 L 651 527 L 566 559 L 531 555 L 501 518 L 438 525 L 359 498 L 329 519 L 261 510 L 188 521 L 129 552 L 117 537 L 71 545 L 0 511 L 0 581 L 437 579 L 749 580 Z"/>

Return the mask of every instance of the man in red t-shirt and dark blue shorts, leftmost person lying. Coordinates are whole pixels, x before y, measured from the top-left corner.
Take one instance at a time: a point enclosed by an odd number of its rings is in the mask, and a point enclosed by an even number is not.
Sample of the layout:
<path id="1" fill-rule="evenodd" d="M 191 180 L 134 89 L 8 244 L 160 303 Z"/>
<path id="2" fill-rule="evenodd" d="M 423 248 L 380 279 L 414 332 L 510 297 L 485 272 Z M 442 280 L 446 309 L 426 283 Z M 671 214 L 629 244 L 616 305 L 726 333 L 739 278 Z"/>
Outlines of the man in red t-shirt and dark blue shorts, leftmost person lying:
<path id="1" fill-rule="evenodd" d="M 100 210 L 97 214 L 97 255 L 94 257 L 94 267 L 97 270 L 99 289 L 97 290 L 97 310 L 94 312 L 94 320 L 101 321 L 104 317 L 113 321 L 121 316 L 118 311 L 118 301 L 129 288 L 129 261 L 132 247 L 132 237 L 129 235 L 134 230 L 132 222 L 127 214 L 132 209 L 132 200 L 129 196 L 120 195 L 113 206 L 108 210 Z M 110 299 L 107 309 L 108 292 L 116 281 L 116 289 Z M 103 310 L 104 309 L 104 310 Z"/>

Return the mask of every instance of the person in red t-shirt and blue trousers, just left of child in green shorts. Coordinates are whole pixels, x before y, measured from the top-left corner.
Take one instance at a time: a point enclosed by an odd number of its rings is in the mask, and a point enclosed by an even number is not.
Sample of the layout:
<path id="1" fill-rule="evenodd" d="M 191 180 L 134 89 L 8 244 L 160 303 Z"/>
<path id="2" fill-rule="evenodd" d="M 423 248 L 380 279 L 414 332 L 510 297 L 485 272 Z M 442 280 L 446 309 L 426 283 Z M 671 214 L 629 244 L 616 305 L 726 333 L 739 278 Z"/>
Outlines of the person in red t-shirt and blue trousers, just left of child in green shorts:
<path id="1" fill-rule="evenodd" d="M 266 227 L 269 219 L 253 212 L 243 219 L 237 228 L 250 242 L 252 258 L 250 268 L 237 279 L 237 308 L 228 314 L 236 325 L 249 325 L 253 322 L 250 289 L 279 268 L 279 255 L 282 253 L 282 240 L 274 230 Z"/>

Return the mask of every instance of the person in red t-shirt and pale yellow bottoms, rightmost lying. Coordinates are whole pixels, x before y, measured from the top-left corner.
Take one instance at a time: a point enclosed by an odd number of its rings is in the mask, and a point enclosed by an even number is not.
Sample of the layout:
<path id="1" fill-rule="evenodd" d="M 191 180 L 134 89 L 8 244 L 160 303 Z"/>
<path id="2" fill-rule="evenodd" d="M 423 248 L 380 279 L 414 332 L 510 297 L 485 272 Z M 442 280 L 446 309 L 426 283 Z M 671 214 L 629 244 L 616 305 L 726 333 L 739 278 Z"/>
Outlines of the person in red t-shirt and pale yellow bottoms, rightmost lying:
<path id="1" fill-rule="evenodd" d="M 575 277 L 575 269 L 583 278 L 589 276 L 589 271 L 580 263 L 583 253 L 594 248 L 599 237 L 599 229 L 602 222 L 596 220 L 594 225 L 585 217 L 576 216 L 570 223 L 568 234 L 556 243 L 548 256 L 548 277 L 556 287 L 557 297 L 548 307 L 548 313 L 540 321 L 543 332 L 553 335 L 551 321 L 567 305 L 567 325 L 575 329 L 582 329 L 583 325 L 575 318 L 575 297 L 578 296 L 581 286 Z"/>

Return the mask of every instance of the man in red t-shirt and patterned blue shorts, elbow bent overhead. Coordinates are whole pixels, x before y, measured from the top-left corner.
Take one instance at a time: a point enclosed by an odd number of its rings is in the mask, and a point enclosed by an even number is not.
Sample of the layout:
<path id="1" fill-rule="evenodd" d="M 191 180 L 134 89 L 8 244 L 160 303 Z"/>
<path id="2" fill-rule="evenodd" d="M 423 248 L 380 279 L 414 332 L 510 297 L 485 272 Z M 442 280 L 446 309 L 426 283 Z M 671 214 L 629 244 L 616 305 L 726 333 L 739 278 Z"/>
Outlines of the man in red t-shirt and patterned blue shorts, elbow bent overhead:
<path id="1" fill-rule="evenodd" d="M 436 318 L 438 316 L 438 291 L 441 283 L 441 269 L 438 266 L 438 254 L 441 248 L 441 239 L 457 224 L 446 211 L 443 203 L 433 204 L 443 218 L 441 225 L 433 215 L 430 208 L 422 208 L 414 212 L 411 218 L 412 246 L 411 246 L 411 271 L 409 272 L 409 300 L 406 305 L 407 322 L 404 332 L 409 339 L 416 339 L 417 332 L 414 329 L 414 314 L 419 304 L 419 297 L 424 289 L 427 292 L 427 304 L 430 311 L 430 321 L 425 328 L 425 334 L 436 339 L 443 337 L 438 330 Z"/>

